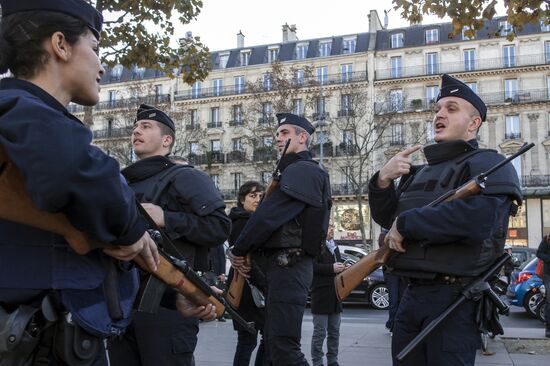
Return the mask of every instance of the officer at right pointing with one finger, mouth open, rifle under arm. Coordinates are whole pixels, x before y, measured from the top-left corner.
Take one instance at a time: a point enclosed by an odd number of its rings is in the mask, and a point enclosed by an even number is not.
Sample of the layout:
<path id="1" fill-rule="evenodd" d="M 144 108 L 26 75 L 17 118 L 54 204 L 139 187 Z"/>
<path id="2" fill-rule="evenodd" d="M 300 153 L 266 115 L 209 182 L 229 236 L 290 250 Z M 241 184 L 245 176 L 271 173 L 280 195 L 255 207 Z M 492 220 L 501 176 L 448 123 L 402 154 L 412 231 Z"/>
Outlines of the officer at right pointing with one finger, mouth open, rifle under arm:
<path id="1" fill-rule="evenodd" d="M 466 84 L 443 75 L 433 119 L 437 143 L 424 147 L 427 165 L 413 166 L 411 155 L 420 147 L 408 148 L 369 183 L 373 219 L 389 228 L 386 242 L 397 252 L 388 267 L 409 282 L 393 325 L 394 365 L 473 365 L 481 347 L 476 303 L 467 301 L 404 362 L 395 359 L 503 253 L 513 201 L 521 202 L 511 164 L 491 175 L 481 194 L 425 207 L 504 159 L 478 148 L 486 114 L 487 107 Z M 396 190 L 393 180 L 399 177 Z"/>

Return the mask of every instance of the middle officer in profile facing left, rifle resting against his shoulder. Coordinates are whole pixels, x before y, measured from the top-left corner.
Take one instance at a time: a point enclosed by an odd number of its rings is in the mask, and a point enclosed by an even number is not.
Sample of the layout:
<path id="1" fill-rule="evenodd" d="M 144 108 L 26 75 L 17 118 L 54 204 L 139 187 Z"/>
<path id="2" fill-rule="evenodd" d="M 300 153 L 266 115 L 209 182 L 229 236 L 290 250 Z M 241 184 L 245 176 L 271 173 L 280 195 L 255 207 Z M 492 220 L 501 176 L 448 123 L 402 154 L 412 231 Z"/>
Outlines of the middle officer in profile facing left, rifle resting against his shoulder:
<path id="1" fill-rule="evenodd" d="M 303 117 L 277 114 L 277 148 L 282 152 L 280 183 L 250 218 L 230 255 L 233 267 L 246 273 L 243 256 L 260 250 L 267 257 L 265 337 L 273 365 L 307 365 L 300 350 L 306 297 L 313 276 L 313 257 L 325 241 L 330 213 L 326 171 L 311 159 L 314 131 Z"/>

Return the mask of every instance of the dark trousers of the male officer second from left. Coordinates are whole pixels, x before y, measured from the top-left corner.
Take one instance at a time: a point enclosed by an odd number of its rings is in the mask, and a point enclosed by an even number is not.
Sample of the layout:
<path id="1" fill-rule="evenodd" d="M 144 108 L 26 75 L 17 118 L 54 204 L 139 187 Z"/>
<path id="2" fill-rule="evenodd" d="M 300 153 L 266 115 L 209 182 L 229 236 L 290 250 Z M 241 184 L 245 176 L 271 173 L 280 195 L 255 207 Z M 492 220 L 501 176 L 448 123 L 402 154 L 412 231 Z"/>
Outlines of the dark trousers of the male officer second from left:
<path id="1" fill-rule="evenodd" d="M 160 307 L 157 314 L 136 312 L 120 338 L 109 341 L 112 366 L 193 366 L 199 320 Z"/>

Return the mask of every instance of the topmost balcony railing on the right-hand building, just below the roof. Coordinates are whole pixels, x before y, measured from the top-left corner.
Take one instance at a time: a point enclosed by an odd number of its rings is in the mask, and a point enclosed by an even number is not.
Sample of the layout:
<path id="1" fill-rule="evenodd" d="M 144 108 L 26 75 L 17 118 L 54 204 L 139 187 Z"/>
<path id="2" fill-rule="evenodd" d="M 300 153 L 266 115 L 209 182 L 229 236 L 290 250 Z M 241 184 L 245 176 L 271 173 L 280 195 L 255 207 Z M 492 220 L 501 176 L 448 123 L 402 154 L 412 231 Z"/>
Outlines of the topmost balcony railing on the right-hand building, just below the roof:
<path id="1" fill-rule="evenodd" d="M 546 64 L 548 60 L 546 59 L 545 53 L 531 54 L 531 55 L 516 55 L 514 59 L 514 64 L 510 64 L 510 58 L 508 57 L 499 57 L 499 58 L 486 58 L 486 59 L 475 59 L 474 62 L 465 62 L 461 60 L 459 62 L 442 62 L 439 63 L 438 71 L 441 74 L 456 73 L 456 72 L 465 72 L 465 71 L 477 71 L 477 70 L 493 70 L 493 69 L 504 69 L 510 67 L 522 67 L 522 66 L 532 66 L 532 65 L 543 65 Z M 406 65 L 399 69 L 399 77 L 413 77 L 413 76 L 423 76 L 423 75 L 433 75 L 434 64 L 423 64 L 423 65 Z M 396 69 L 393 68 L 393 74 L 395 74 Z M 385 79 L 394 79 L 392 77 L 392 68 L 378 69 L 374 73 L 375 80 L 385 80 Z"/>

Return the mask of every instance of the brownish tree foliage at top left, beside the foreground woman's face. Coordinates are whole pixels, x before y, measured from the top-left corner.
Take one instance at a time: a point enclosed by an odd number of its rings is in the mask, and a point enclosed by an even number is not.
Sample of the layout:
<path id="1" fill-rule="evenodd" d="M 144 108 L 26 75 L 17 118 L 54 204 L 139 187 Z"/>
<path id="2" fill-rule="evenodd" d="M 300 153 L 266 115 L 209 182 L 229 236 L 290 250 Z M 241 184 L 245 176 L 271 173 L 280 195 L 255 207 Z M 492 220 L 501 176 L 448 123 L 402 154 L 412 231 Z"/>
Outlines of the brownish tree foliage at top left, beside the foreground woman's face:
<path id="1" fill-rule="evenodd" d="M 204 80 L 211 69 L 210 52 L 199 37 L 183 38 L 171 47 L 172 18 L 187 24 L 202 8 L 201 0 L 97 0 L 106 21 L 101 34 L 102 57 L 108 65 L 137 65 L 180 76 L 188 84 Z"/>

